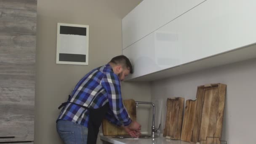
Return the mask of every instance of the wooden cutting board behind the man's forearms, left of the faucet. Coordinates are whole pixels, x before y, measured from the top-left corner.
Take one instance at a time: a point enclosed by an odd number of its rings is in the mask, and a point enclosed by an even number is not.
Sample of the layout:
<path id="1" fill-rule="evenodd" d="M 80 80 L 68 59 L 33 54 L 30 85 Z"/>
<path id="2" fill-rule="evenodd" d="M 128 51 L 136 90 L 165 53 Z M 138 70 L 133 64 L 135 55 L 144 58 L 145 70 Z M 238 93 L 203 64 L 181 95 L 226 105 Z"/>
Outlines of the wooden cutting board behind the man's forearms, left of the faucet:
<path id="1" fill-rule="evenodd" d="M 125 109 L 127 110 L 128 114 L 130 115 L 131 120 L 136 121 L 135 101 L 133 99 L 127 99 L 127 100 L 123 100 L 123 104 L 124 104 Z M 104 136 L 128 134 L 123 130 L 123 128 L 113 125 L 106 119 L 104 119 L 102 121 L 102 132 L 103 132 Z"/>

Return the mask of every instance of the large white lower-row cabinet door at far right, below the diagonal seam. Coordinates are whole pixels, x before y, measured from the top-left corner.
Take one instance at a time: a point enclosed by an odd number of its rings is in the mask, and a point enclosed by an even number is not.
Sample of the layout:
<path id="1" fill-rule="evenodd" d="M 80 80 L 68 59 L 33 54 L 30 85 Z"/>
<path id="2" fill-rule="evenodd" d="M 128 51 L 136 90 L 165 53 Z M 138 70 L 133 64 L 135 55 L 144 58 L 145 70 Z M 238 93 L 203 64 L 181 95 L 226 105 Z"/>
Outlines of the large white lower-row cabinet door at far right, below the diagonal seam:
<path id="1" fill-rule="evenodd" d="M 207 0 L 180 16 L 182 64 L 256 42 L 256 1 Z"/>

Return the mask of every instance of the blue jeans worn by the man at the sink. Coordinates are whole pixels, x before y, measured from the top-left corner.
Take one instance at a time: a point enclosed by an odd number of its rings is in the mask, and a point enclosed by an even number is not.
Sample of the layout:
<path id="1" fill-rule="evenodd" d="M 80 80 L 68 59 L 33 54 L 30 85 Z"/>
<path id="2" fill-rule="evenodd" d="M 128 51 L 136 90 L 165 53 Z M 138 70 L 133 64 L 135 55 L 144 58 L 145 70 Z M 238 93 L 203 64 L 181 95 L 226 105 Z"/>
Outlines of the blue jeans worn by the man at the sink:
<path id="1" fill-rule="evenodd" d="M 88 128 L 68 120 L 58 120 L 56 129 L 64 144 L 86 144 Z"/>

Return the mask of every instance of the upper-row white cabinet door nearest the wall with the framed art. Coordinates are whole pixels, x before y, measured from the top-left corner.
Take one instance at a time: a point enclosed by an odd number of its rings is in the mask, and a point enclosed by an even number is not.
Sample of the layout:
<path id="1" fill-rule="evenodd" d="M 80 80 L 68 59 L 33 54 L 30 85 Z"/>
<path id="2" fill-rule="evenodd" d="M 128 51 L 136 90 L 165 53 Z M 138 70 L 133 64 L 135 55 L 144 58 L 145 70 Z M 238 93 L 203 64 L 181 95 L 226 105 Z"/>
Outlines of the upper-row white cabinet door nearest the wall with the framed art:
<path id="1" fill-rule="evenodd" d="M 144 0 L 122 19 L 123 49 L 176 18 L 176 0 Z"/>

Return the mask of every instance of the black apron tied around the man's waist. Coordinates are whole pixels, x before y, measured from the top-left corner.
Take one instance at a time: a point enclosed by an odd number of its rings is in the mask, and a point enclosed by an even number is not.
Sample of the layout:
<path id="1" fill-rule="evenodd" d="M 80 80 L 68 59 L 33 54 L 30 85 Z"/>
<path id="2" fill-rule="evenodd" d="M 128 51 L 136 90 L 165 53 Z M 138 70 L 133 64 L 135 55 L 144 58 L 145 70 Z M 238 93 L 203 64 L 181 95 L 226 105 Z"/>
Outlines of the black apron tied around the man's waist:
<path id="1" fill-rule="evenodd" d="M 103 118 L 107 114 L 107 110 L 109 109 L 109 103 L 107 102 L 107 104 L 98 109 L 91 109 L 83 105 L 67 101 L 62 103 L 58 107 L 58 109 L 61 109 L 61 107 L 65 107 L 68 103 L 83 107 L 84 109 L 87 109 L 89 111 L 87 144 L 96 144 L 99 127 L 101 126 Z"/>

